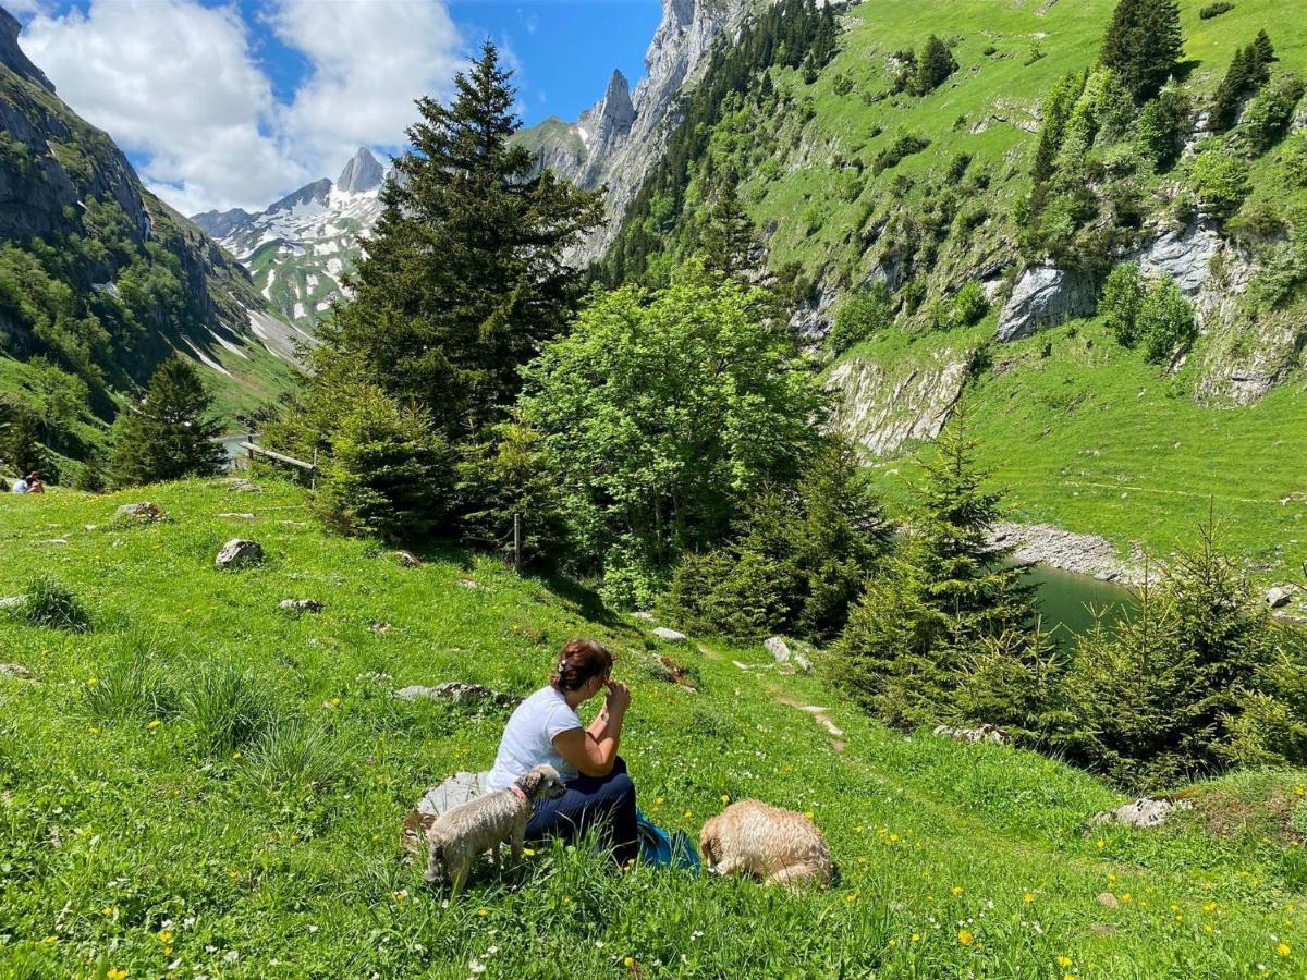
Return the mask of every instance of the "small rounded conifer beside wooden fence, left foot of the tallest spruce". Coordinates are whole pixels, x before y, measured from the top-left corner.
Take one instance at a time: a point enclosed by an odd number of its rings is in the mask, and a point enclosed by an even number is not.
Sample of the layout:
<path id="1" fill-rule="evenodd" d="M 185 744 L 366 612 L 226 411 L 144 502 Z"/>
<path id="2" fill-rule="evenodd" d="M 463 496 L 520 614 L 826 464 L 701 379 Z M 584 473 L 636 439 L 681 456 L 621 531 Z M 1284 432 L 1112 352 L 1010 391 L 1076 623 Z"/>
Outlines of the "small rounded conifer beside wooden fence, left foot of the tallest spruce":
<path id="1" fill-rule="evenodd" d="M 422 408 L 403 408 L 380 388 L 339 388 L 318 506 L 353 534 L 414 540 L 443 527 L 454 460 Z M 510 517 L 511 520 L 511 517 Z"/>

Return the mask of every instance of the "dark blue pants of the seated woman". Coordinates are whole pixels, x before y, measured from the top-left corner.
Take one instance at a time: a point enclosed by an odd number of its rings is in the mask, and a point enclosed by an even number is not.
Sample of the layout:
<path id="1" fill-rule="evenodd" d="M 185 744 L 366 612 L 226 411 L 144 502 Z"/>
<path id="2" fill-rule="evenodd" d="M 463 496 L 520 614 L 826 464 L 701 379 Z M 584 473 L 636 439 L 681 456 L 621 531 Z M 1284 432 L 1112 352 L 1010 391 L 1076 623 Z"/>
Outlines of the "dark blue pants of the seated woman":
<path id="1" fill-rule="evenodd" d="M 621 755 L 613 760 L 606 776 L 578 776 L 567 781 L 567 792 L 557 800 L 537 800 L 528 840 L 562 838 L 575 840 L 592 827 L 613 849 L 613 858 L 625 865 L 639 855 L 639 831 L 635 826 L 635 783 L 626 774 Z"/>

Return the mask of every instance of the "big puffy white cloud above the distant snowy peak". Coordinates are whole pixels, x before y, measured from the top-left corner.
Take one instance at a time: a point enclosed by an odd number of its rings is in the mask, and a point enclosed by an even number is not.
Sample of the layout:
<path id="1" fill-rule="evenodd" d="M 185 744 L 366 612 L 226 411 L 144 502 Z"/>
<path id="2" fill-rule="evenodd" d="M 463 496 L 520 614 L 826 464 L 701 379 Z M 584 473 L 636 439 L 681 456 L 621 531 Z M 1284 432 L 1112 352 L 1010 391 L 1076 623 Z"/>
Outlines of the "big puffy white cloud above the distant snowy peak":
<path id="1" fill-rule="evenodd" d="M 144 161 L 141 178 L 170 204 L 259 209 L 335 178 L 359 145 L 401 145 L 413 99 L 447 94 L 460 46 L 440 0 L 269 8 L 267 26 L 310 67 L 289 103 L 274 98 L 235 7 L 91 0 L 85 13 L 37 13 L 21 43 L 64 101 Z"/>

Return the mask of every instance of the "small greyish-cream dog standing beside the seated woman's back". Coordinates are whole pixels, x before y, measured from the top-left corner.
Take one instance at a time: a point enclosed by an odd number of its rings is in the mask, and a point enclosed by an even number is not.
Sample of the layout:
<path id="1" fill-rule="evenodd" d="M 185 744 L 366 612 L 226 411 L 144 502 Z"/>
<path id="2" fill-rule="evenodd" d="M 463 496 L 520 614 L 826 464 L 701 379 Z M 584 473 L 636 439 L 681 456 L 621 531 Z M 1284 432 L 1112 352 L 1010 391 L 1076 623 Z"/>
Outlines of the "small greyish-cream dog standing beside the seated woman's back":
<path id="1" fill-rule="evenodd" d="M 512 845 L 514 862 L 520 861 L 531 805 L 536 800 L 557 800 L 566 792 L 553 766 L 536 766 L 507 789 L 455 806 L 426 831 L 431 851 L 426 881 L 447 878 L 452 885 L 450 898 L 454 898 L 468 879 L 477 855 L 489 851 L 503 868 L 499 845 L 505 841 Z"/>

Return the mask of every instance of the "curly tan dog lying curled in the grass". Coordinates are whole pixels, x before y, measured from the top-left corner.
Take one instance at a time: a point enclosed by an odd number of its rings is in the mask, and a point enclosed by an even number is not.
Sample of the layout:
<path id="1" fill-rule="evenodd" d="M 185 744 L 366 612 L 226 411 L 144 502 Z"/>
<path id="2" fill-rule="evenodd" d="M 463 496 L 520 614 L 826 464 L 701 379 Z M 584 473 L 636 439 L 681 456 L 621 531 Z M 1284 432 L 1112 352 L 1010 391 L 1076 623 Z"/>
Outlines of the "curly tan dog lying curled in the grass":
<path id="1" fill-rule="evenodd" d="M 767 883 L 829 885 L 830 847 L 793 810 L 741 800 L 703 825 L 703 861 L 714 874 L 748 874 Z"/>

